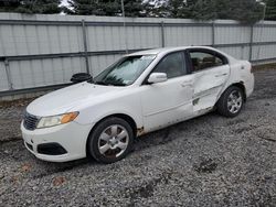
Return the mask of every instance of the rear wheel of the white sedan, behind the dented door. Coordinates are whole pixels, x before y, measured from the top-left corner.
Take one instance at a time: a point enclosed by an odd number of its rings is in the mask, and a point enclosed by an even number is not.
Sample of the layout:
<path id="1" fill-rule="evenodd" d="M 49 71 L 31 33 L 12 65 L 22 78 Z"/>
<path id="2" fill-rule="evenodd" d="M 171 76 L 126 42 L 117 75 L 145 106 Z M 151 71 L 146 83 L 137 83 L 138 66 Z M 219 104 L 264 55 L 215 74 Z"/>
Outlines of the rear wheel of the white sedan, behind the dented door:
<path id="1" fill-rule="evenodd" d="M 236 117 L 243 108 L 244 96 L 240 87 L 229 87 L 216 102 L 217 112 L 229 118 Z"/>

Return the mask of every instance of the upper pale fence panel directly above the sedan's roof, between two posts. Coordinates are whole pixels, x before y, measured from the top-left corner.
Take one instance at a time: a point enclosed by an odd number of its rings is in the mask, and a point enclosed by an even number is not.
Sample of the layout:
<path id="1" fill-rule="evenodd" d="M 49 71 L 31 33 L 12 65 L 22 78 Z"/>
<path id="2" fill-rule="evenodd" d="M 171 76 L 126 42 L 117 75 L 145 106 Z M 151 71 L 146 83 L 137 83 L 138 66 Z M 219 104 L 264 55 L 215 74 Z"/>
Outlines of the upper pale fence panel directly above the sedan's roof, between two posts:
<path id="1" fill-rule="evenodd" d="M 211 45 L 211 26 L 166 26 L 166 46 Z"/>

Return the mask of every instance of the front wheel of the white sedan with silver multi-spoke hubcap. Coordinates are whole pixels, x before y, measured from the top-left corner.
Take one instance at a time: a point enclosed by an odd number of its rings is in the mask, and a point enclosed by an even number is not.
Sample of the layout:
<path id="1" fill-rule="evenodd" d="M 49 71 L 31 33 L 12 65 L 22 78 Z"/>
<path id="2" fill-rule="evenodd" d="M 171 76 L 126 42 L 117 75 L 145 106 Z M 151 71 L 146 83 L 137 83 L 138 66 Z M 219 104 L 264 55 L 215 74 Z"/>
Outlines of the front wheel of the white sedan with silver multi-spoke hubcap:
<path id="1" fill-rule="evenodd" d="M 124 119 L 110 117 L 92 131 L 87 152 L 100 163 L 114 163 L 124 159 L 132 149 L 134 131 Z"/>

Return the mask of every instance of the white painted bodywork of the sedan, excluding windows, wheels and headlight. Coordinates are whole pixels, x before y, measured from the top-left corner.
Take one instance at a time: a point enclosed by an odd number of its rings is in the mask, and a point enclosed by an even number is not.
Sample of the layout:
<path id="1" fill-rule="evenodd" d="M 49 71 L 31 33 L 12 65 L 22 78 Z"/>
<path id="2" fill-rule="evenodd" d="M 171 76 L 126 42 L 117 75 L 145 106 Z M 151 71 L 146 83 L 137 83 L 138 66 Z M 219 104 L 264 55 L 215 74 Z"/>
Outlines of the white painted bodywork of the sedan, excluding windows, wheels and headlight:
<path id="1" fill-rule="evenodd" d="M 142 84 L 163 56 L 191 48 L 217 52 L 226 57 L 227 64 L 163 83 Z M 79 111 L 79 115 L 72 122 L 35 130 L 25 129 L 22 121 L 21 130 L 26 149 L 38 159 L 45 161 L 77 160 L 86 157 L 89 132 L 106 117 L 123 115 L 130 118 L 136 124 L 136 133 L 139 137 L 209 112 L 231 85 L 243 85 L 246 97 L 253 92 L 254 76 L 251 73 L 251 64 L 247 61 L 235 59 L 217 50 L 203 46 L 171 47 L 142 51 L 130 56 L 144 54 L 156 55 L 156 58 L 130 86 L 81 83 L 50 92 L 31 102 L 26 112 L 35 117 L 56 116 L 71 111 Z M 61 155 L 39 153 L 38 145 L 43 143 L 59 143 L 66 153 Z"/>

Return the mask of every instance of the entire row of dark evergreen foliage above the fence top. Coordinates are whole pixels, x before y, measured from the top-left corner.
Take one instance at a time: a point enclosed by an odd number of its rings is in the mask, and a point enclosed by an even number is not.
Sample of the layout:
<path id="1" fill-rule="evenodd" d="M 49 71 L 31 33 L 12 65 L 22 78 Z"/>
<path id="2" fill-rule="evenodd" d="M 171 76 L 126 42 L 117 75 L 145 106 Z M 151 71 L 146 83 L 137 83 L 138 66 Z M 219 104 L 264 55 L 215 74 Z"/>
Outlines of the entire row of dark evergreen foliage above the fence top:
<path id="1" fill-rule="evenodd" d="M 266 2 L 266 20 L 276 20 L 276 0 Z M 82 15 L 121 15 L 120 0 L 0 0 L 0 12 L 60 13 Z M 232 19 L 255 23 L 263 18 L 264 6 L 256 0 L 124 0 L 126 17 L 182 18 L 199 21 Z"/>

